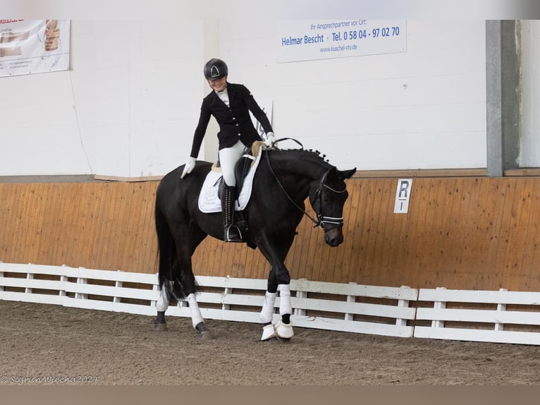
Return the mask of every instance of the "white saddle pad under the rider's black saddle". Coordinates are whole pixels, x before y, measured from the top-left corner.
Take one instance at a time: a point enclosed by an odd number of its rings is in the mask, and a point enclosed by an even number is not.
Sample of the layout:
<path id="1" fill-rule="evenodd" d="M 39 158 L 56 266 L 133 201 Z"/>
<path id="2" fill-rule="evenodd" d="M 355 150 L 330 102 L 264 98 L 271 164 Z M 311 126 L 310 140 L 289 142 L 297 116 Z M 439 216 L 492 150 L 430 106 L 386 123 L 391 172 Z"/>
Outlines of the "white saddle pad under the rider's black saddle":
<path id="1" fill-rule="evenodd" d="M 247 172 L 245 177 L 242 190 L 240 195 L 238 195 L 238 201 L 235 204 L 235 210 L 241 211 L 244 210 L 247 203 L 250 202 L 251 191 L 253 187 L 253 178 L 255 176 L 255 171 L 259 166 L 259 161 L 261 160 L 262 150 L 259 148 L 259 153 L 257 154 L 257 159 L 255 159 L 254 164 L 250 168 L 250 171 Z M 246 155 L 245 155 L 246 156 Z M 252 156 L 250 156 L 252 158 Z M 201 193 L 199 195 L 199 210 L 210 214 L 212 212 L 221 212 L 221 200 L 218 197 L 219 193 L 219 183 L 221 181 L 221 171 L 211 170 L 207 174 L 207 178 L 204 179 L 202 184 Z"/>

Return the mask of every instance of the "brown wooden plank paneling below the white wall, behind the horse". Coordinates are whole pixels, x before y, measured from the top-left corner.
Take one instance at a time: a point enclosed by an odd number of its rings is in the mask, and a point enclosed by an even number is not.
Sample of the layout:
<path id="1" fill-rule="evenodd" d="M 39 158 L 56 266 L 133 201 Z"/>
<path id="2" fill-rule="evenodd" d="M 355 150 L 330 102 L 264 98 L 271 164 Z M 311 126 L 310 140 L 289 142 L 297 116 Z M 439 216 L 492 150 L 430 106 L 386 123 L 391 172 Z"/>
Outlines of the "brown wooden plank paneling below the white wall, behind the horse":
<path id="1" fill-rule="evenodd" d="M 0 183 L 0 260 L 157 271 L 156 182 Z M 414 179 L 393 214 L 395 179 L 348 182 L 345 242 L 326 246 L 302 219 L 286 260 L 293 278 L 412 287 L 540 288 L 540 178 Z M 309 208 L 309 212 L 312 210 Z M 259 250 L 207 238 L 195 274 L 264 278 Z"/>

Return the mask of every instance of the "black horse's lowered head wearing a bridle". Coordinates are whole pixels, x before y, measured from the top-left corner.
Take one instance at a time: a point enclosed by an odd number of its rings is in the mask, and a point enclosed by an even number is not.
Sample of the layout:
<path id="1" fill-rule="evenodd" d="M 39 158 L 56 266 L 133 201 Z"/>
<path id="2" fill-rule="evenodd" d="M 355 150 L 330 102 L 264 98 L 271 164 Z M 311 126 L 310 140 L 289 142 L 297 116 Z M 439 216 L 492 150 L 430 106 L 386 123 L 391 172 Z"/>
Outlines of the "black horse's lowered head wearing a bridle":
<path id="1" fill-rule="evenodd" d="M 309 190 L 309 202 L 324 229 L 324 241 L 330 246 L 343 242 L 343 205 L 349 193 L 345 179 L 355 174 L 356 168 L 340 171 L 332 167 Z"/>

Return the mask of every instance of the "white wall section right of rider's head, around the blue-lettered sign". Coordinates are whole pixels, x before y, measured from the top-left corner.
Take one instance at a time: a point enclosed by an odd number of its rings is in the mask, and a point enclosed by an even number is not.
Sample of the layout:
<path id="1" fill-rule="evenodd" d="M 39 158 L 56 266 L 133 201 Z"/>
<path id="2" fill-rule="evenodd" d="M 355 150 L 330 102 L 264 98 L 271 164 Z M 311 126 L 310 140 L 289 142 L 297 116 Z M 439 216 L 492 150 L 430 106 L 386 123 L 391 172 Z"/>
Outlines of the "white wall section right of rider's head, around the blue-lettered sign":
<path id="1" fill-rule="evenodd" d="M 275 22 L 223 24 L 231 81 L 274 99 L 274 130 L 338 167 L 486 167 L 484 20 L 407 22 L 407 52 L 276 64 Z"/>

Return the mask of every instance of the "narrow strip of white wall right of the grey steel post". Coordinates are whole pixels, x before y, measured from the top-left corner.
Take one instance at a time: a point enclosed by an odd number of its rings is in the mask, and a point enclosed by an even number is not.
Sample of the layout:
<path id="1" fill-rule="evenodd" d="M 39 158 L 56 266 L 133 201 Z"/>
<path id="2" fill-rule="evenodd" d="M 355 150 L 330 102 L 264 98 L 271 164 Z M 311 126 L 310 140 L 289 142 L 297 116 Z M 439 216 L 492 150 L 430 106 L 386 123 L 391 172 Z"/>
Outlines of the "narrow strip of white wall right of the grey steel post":
<path id="1" fill-rule="evenodd" d="M 520 167 L 540 166 L 540 21 L 522 21 Z"/>

